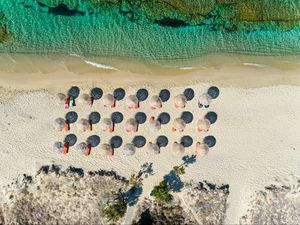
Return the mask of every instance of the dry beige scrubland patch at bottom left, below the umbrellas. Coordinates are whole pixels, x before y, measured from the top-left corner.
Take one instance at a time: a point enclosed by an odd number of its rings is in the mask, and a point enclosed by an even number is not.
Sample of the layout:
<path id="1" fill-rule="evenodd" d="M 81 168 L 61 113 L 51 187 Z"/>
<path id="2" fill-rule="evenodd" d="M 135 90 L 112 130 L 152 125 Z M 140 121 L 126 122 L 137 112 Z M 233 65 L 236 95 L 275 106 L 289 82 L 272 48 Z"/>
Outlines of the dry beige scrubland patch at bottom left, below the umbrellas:
<path id="1" fill-rule="evenodd" d="M 126 187 L 113 171 L 45 166 L 2 189 L 0 224 L 109 224 L 102 209 Z"/>

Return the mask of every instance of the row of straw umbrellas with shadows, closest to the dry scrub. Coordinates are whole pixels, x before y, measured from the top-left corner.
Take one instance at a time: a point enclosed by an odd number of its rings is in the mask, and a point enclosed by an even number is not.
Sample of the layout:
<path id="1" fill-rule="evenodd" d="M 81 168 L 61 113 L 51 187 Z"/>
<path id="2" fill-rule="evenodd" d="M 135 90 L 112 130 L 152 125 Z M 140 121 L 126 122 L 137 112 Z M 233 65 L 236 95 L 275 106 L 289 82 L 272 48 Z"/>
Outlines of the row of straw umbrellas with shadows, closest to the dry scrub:
<path id="1" fill-rule="evenodd" d="M 69 152 L 69 147 L 74 146 L 77 142 L 77 137 L 74 134 L 69 134 L 65 137 L 64 142 L 55 142 L 53 145 L 53 150 L 56 153 L 67 154 Z M 146 145 L 146 138 L 143 136 L 135 136 L 131 143 L 126 143 L 123 145 L 123 155 L 131 156 L 136 153 L 137 148 L 142 148 Z M 169 140 L 166 136 L 157 137 L 155 142 L 147 143 L 147 153 L 159 154 L 162 147 L 166 147 Z M 85 142 L 80 142 L 77 144 L 76 149 L 86 156 L 91 153 L 92 148 L 97 147 L 100 144 L 100 137 L 97 135 L 90 136 Z M 120 148 L 123 144 L 123 140 L 120 136 L 113 136 L 109 143 L 103 143 L 99 146 L 99 153 L 103 156 L 113 156 L 114 151 Z M 173 142 L 172 152 L 177 155 L 183 155 L 185 153 L 185 148 L 192 146 L 193 139 L 190 136 L 183 136 L 180 142 Z M 212 148 L 216 144 L 216 138 L 213 136 L 206 136 L 202 142 L 196 142 L 195 154 L 200 154 L 205 156 L 209 148 Z"/>

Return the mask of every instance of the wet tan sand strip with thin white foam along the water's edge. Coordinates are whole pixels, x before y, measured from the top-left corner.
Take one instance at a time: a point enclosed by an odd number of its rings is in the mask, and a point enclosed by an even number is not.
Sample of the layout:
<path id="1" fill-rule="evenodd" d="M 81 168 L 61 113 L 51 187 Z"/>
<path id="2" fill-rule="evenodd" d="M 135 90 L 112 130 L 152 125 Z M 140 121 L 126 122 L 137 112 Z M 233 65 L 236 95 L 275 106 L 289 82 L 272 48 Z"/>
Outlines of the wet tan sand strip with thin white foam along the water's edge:
<path id="1" fill-rule="evenodd" d="M 296 60 L 276 59 L 272 62 L 269 58 L 264 59 L 259 64 L 259 57 L 240 60 L 233 55 L 224 55 L 214 61 L 214 56 L 209 56 L 199 66 L 195 66 L 195 61 L 193 65 L 162 67 L 122 58 L 0 54 L 0 86 L 21 90 L 58 90 L 81 83 L 87 86 L 104 84 L 106 87 L 180 87 L 194 83 L 235 88 L 300 86 L 300 64 Z"/>

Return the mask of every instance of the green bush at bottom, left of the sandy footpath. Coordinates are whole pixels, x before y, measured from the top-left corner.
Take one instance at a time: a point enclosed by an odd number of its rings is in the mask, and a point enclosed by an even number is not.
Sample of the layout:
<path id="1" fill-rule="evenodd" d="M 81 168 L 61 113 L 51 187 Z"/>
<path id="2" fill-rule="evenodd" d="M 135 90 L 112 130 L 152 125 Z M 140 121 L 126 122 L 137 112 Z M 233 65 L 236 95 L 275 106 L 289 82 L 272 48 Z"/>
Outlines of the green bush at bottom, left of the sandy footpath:
<path id="1" fill-rule="evenodd" d="M 124 199 L 116 199 L 112 203 L 107 203 L 103 209 L 104 216 L 108 221 L 117 222 L 127 211 L 127 205 Z"/>

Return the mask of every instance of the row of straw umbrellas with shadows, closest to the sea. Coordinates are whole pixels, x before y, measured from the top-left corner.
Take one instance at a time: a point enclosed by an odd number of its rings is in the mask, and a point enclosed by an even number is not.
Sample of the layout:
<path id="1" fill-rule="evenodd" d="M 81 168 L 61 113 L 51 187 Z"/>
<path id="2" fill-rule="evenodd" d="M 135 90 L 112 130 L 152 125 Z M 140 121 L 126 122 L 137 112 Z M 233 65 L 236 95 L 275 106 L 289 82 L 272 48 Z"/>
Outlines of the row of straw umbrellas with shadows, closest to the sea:
<path id="1" fill-rule="evenodd" d="M 210 87 L 207 93 L 203 93 L 199 96 L 198 106 L 199 108 L 208 108 L 212 100 L 219 96 L 219 89 L 217 87 Z M 125 97 L 125 90 L 122 88 L 117 88 L 113 93 L 108 93 L 103 95 L 103 91 L 100 88 L 91 89 L 89 94 L 80 94 L 80 89 L 78 87 L 71 87 L 68 94 L 63 93 L 57 94 L 57 100 L 59 103 L 63 103 L 65 109 L 69 107 L 76 106 L 75 100 L 78 98 L 80 104 L 86 104 L 92 106 L 95 100 L 102 98 L 104 107 L 116 107 L 116 102 L 121 101 Z M 140 103 L 145 101 L 149 96 L 146 89 L 139 89 L 135 94 L 130 94 L 126 97 L 126 105 L 129 109 L 138 109 Z M 159 109 L 162 107 L 163 102 L 170 99 L 170 92 L 167 89 L 163 89 L 157 95 L 151 96 L 149 100 L 150 109 Z M 174 97 L 174 105 L 176 108 L 185 108 L 188 101 L 192 100 L 195 96 L 194 90 L 192 88 L 187 88 L 182 94 L 176 95 Z"/>

